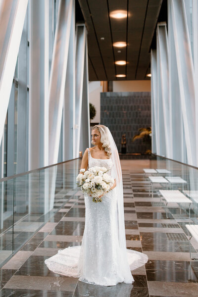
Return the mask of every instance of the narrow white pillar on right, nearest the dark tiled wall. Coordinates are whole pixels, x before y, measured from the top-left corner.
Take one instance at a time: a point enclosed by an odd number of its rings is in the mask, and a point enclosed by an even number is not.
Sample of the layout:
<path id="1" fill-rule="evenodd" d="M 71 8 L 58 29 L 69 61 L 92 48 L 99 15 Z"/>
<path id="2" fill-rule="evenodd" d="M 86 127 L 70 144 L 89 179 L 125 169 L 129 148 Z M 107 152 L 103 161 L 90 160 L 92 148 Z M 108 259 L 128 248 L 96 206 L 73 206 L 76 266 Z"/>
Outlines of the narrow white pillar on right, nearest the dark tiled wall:
<path id="1" fill-rule="evenodd" d="M 152 152 L 160 154 L 159 151 L 159 129 L 158 129 L 158 99 L 157 99 L 157 53 L 151 50 L 151 127 L 152 127 Z"/>

